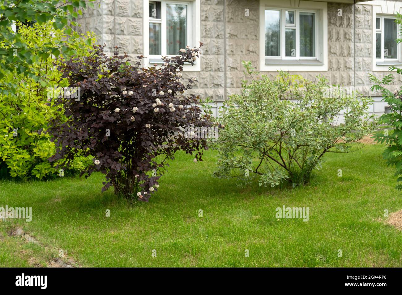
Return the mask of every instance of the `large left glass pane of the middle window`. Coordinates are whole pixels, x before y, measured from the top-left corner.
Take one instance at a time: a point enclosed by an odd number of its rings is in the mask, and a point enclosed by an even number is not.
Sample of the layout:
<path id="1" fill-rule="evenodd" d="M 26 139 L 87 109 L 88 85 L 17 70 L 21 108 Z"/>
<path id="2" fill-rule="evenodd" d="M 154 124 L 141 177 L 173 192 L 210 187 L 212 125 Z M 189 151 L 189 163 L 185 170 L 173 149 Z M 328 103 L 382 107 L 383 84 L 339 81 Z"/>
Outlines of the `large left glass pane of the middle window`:
<path id="1" fill-rule="evenodd" d="M 280 56 L 281 12 L 265 10 L 265 55 Z"/>

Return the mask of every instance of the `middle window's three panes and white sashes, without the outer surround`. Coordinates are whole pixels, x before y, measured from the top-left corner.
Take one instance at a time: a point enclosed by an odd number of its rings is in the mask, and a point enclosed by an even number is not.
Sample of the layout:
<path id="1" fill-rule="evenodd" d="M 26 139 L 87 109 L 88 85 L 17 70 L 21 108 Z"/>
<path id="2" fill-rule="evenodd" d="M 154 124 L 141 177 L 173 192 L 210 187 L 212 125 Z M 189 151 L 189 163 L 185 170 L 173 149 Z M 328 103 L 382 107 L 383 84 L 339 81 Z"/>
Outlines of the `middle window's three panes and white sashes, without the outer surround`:
<path id="1" fill-rule="evenodd" d="M 265 9 L 267 59 L 317 59 L 316 11 Z"/>

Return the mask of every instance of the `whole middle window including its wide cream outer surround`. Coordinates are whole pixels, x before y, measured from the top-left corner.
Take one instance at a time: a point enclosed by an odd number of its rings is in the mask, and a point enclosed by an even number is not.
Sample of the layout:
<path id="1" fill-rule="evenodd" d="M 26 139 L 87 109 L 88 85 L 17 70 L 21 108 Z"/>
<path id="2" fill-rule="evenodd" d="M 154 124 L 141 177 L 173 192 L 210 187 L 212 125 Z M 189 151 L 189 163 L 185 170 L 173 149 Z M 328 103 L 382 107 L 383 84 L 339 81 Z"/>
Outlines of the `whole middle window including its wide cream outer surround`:
<path id="1" fill-rule="evenodd" d="M 325 2 L 260 0 L 261 71 L 327 71 Z"/>

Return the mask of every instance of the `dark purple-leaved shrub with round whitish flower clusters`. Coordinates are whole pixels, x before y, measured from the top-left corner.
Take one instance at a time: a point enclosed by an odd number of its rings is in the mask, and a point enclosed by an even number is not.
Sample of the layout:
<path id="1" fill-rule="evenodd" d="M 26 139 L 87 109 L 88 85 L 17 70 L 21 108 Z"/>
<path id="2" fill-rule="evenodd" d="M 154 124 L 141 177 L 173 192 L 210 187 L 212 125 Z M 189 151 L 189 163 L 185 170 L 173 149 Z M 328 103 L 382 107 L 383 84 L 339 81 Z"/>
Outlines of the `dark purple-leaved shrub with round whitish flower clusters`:
<path id="1" fill-rule="evenodd" d="M 202 43 L 200 43 L 200 47 Z M 148 201 L 158 190 L 166 160 L 178 150 L 195 153 L 202 161 L 205 138 L 188 137 L 183 129 L 192 124 L 208 128 L 210 114 L 200 108 L 200 98 L 186 95 L 195 78 L 186 82 L 181 71 L 193 65 L 200 47 L 181 49 L 159 68 L 141 67 L 142 56 L 131 64 L 127 55 L 107 57 L 103 46 L 95 46 L 88 57 L 64 61 L 59 66 L 70 87 L 80 87 L 80 100 L 58 98 L 67 120 L 54 117 L 49 130 L 56 153 L 49 160 L 93 155 L 93 163 L 82 171 L 106 175 L 102 191 L 110 186 L 115 193 L 132 200 Z"/>

